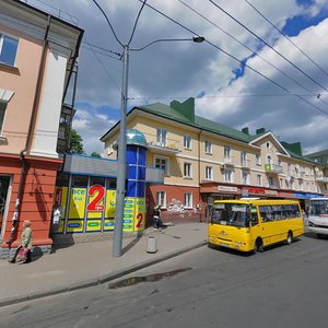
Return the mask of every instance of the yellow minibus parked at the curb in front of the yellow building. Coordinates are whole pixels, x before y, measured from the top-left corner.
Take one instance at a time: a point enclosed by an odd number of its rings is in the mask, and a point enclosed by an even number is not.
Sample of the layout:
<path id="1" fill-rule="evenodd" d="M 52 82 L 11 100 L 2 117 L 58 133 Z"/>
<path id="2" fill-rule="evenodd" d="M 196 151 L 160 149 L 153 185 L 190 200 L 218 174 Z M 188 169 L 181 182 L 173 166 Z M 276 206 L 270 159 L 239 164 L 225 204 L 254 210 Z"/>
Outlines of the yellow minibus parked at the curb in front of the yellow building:
<path id="1" fill-rule="evenodd" d="M 242 251 L 263 251 L 280 242 L 291 244 L 304 233 L 300 203 L 294 200 L 218 200 L 210 216 L 209 245 Z"/>

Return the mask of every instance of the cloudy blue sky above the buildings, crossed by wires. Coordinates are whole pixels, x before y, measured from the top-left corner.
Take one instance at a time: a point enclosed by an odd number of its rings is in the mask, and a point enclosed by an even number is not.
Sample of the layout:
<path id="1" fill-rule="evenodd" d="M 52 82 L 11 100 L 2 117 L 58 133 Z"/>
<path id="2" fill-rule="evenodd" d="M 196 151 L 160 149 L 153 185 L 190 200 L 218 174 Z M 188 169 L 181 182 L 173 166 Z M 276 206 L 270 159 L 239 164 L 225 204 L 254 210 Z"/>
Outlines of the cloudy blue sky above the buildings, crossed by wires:
<path id="1" fill-rule="evenodd" d="M 131 35 L 140 1 L 97 1 L 107 13 L 117 37 L 122 44 L 126 43 Z M 248 1 L 328 72 L 328 1 Z M 274 31 L 246 1 L 215 2 L 328 89 L 328 75 Z M 96 48 L 91 50 L 86 43 L 116 52 L 121 52 L 122 49 L 92 1 L 28 0 L 28 3 L 54 15 L 58 15 L 60 10 L 61 17 L 72 20 L 73 16 L 85 31 L 79 61 L 75 103 L 78 112 L 73 126 L 83 137 L 87 153 L 103 153 L 104 145 L 99 138 L 120 117 L 122 65 L 110 57 L 110 52 L 104 50 L 102 55 L 95 52 Z M 129 108 L 154 102 L 169 104 L 175 98 L 185 101 L 194 96 L 196 114 L 199 116 L 237 129 L 247 126 L 250 132 L 266 127 L 281 141 L 301 141 L 305 153 L 328 149 L 328 115 L 315 107 L 328 114 L 326 90 L 277 56 L 210 1 L 148 0 L 147 3 L 180 25 L 144 7 L 131 47 L 139 48 L 159 38 L 189 38 L 197 33 L 203 35 L 212 45 L 246 62 L 267 79 L 208 43 L 157 43 L 142 51 L 130 54 Z M 272 66 L 254 51 L 242 47 L 219 27 L 257 51 Z M 273 66 L 291 79 L 281 74 Z M 284 92 L 269 80 L 289 92 Z M 316 97 L 318 93 L 320 98 Z M 308 105 L 297 95 L 302 95 L 313 105 Z"/>

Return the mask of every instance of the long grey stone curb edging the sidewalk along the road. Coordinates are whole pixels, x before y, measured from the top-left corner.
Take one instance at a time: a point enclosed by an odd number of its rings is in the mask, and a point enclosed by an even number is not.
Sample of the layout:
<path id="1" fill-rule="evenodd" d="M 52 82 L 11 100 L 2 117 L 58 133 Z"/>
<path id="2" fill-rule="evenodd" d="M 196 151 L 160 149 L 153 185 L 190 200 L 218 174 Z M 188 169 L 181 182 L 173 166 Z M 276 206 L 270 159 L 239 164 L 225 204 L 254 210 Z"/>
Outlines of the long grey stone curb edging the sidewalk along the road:
<path id="1" fill-rule="evenodd" d="M 48 291 L 35 292 L 35 293 L 31 293 L 31 294 L 26 294 L 26 295 L 20 295 L 20 296 L 0 300 L 0 307 L 103 284 L 108 281 L 115 280 L 117 278 L 124 277 L 126 274 L 136 272 L 136 271 L 144 269 L 147 267 L 156 265 L 159 262 L 165 261 L 173 257 L 183 255 L 190 250 L 200 248 L 207 244 L 208 244 L 207 241 L 202 241 L 201 243 L 198 243 L 198 244 L 195 244 L 195 245 L 191 245 L 191 246 L 188 246 L 188 247 L 175 250 L 175 251 L 171 251 L 168 254 L 164 254 L 162 256 L 159 256 L 157 258 L 145 260 L 141 263 L 133 265 L 133 266 L 127 267 L 125 269 L 120 269 L 120 270 L 101 276 L 98 278 L 77 282 L 69 286 L 58 286 L 58 288 L 49 289 Z"/>

